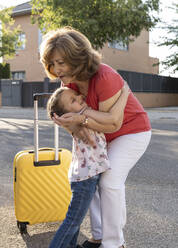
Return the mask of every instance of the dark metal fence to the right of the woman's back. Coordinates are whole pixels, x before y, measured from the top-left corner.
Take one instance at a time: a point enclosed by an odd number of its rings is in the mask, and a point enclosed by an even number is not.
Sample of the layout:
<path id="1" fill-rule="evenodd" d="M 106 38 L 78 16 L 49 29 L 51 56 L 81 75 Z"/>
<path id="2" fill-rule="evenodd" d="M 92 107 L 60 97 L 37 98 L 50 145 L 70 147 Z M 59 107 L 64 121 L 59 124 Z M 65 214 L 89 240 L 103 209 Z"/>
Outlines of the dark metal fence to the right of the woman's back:
<path id="1" fill-rule="evenodd" d="M 178 78 L 118 70 L 133 92 L 178 93 Z"/>

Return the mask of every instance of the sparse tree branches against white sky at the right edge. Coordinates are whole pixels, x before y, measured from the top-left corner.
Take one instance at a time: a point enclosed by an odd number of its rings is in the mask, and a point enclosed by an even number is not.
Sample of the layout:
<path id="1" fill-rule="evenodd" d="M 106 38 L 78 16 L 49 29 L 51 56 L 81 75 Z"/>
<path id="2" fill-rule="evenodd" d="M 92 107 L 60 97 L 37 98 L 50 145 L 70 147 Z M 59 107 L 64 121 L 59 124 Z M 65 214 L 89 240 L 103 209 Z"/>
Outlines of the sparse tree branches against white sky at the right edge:
<path id="1" fill-rule="evenodd" d="M 178 14 L 178 4 L 173 4 L 172 9 Z M 171 73 L 178 71 L 178 19 L 173 19 L 171 24 L 164 23 L 167 31 L 167 36 L 162 37 L 163 41 L 158 43 L 158 46 L 167 46 L 170 49 L 170 55 L 166 57 L 161 64 L 165 69 L 170 69 Z"/>

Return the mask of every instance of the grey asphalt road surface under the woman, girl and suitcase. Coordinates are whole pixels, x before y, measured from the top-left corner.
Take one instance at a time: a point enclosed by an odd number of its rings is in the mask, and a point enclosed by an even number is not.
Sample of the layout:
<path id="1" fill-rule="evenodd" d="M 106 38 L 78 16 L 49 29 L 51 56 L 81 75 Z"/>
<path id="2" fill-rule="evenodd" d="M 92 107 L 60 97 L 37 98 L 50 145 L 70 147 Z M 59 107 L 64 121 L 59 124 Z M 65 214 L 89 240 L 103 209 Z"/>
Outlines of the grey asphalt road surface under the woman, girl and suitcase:
<path id="1" fill-rule="evenodd" d="M 126 183 L 128 248 L 178 247 L 178 108 L 147 109 L 153 135 L 144 156 Z M 40 109 L 40 146 L 53 146 L 53 124 Z M 71 149 L 71 137 L 59 130 L 60 147 Z M 28 227 L 21 236 L 13 207 L 12 164 L 20 150 L 33 149 L 33 109 L 0 108 L 0 247 L 47 248 L 58 223 Z M 91 237 L 88 216 L 81 242 Z M 108 247 L 109 248 L 109 247 Z"/>

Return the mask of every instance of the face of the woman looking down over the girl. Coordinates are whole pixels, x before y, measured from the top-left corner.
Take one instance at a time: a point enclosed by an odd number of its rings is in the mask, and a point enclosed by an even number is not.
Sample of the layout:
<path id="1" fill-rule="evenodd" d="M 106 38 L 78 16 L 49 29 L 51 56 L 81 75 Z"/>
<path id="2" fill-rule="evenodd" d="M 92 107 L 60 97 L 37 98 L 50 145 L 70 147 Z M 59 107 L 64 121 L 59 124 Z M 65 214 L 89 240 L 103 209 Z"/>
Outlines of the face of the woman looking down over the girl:
<path id="1" fill-rule="evenodd" d="M 52 53 L 49 65 L 50 72 L 56 75 L 64 85 L 74 81 L 69 65 L 64 62 L 64 59 L 57 50 L 54 50 Z"/>

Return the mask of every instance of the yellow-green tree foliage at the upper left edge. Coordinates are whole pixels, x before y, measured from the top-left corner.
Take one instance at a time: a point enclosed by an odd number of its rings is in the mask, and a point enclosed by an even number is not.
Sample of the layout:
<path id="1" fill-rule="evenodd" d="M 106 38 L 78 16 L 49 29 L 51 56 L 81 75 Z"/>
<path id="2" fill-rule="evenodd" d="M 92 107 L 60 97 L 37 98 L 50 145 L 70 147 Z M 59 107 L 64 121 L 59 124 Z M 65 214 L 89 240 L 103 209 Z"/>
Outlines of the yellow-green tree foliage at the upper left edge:
<path id="1" fill-rule="evenodd" d="M 0 11 L 0 57 L 3 58 L 13 57 L 16 48 L 21 45 L 18 41 L 20 26 L 13 27 L 11 14 L 12 8 Z"/>

